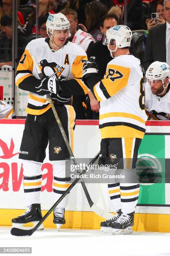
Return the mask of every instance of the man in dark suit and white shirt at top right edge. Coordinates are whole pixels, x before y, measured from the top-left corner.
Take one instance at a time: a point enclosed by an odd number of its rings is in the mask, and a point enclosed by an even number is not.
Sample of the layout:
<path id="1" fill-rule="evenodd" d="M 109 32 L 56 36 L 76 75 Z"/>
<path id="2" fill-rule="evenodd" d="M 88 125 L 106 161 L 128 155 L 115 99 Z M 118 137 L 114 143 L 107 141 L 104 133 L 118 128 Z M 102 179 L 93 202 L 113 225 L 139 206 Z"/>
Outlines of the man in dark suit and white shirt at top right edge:
<path id="1" fill-rule="evenodd" d="M 143 58 L 145 70 L 153 61 L 167 62 L 170 65 L 170 0 L 165 0 L 164 12 L 166 23 L 151 28 L 147 37 Z"/>

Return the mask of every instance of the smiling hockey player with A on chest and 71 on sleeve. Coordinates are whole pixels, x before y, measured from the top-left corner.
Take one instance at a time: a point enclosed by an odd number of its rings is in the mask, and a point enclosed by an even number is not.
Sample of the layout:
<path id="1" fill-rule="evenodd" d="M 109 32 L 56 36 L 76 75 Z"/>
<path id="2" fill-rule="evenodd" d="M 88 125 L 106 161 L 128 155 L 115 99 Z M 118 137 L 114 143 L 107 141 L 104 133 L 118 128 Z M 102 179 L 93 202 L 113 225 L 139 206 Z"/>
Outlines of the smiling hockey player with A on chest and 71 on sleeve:
<path id="1" fill-rule="evenodd" d="M 70 23 L 61 13 L 51 14 L 47 19 L 49 38 L 32 40 L 20 59 L 16 72 L 16 85 L 29 91 L 27 118 L 20 146 L 19 158 L 23 159 L 24 195 L 27 210 L 12 220 L 13 226 L 42 218 L 40 191 L 42 184 L 41 164 L 45 159 L 45 149 L 49 142 L 49 159 L 53 164 L 54 202 L 70 186 L 70 177 L 65 175 L 65 159 L 70 158 L 60 129 L 52 113 L 49 101 L 44 95 L 51 93 L 55 108 L 73 146 L 75 111 L 72 108 L 72 95 L 85 95 L 88 88 L 81 81 L 83 62 L 87 60 L 85 51 L 67 41 L 70 36 Z M 44 78 L 39 79 L 32 60 L 35 56 Z M 50 77 L 55 73 L 54 77 Z M 54 210 L 53 222 L 57 228 L 65 223 L 66 196 Z M 40 229 L 43 226 L 40 226 Z"/>

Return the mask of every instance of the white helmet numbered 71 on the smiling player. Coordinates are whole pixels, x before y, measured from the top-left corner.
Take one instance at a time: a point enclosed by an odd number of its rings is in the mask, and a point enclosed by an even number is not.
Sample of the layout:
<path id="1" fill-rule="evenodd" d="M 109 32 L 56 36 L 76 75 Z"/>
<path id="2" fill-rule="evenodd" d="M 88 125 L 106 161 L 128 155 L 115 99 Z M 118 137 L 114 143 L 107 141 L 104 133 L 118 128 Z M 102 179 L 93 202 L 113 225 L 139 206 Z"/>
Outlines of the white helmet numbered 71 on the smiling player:
<path id="1" fill-rule="evenodd" d="M 68 29 L 68 36 L 71 36 L 70 21 L 67 20 L 62 13 L 50 14 L 46 21 L 47 34 L 53 36 L 54 30 L 66 30 Z"/>

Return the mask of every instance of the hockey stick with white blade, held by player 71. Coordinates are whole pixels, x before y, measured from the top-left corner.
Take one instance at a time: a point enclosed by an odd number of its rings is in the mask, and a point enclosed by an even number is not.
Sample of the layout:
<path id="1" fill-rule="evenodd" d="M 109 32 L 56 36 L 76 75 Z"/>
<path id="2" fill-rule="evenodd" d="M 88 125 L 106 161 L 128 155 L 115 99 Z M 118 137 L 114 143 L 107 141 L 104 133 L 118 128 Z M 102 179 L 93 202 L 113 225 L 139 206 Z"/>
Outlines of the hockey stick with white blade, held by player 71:
<path id="1" fill-rule="evenodd" d="M 34 62 L 34 64 L 35 64 L 35 68 L 36 68 L 36 70 L 37 70 L 37 74 L 38 74 L 38 76 L 40 77 L 40 79 L 42 79 L 43 76 L 42 76 L 40 67 L 38 66 L 38 63 L 37 63 L 37 60 L 36 60 L 35 56 L 32 56 L 32 59 L 33 59 L 33 62 Z M 54 74 L 52 74 L 52 76 L 53 76 L 53 75 L 54 75 Z M 69 152 L 69 154 L 70 154 L 70 157 L 71 157 L 73 163 L 74 163 L 75 165 L 77 165 L 76 159 L 75 159 L 75 157 L 74 157 L 74 155 L 73 155 L 73 153 L 72 153 L 72 149 L 71 149 L 71 147 L 70 147 L 70 143 L 69 143 L 69 141 L 68 141 L 68 139 L 67 139 L 67 136 L 66 136 L 66 134 L 65 134 L 64 128 L 62 127 L 62 123 L 61 123 L 60 118 L 59 118 L 59 116 L 58 116 L 58 114 L 57 114 L 57 111 L 55 110 L 55 106 L 54 106 L 54 104 L 53 104 L 53 102 L 52 102 L 52 99 L 51 99 L 51 97 L 50 97 L 49 94 L 47 94 L 47 98 L 48 98 L 48 100 L 49 100 L 49 102 L 50 102 L 50 105 L 51 105 L 51 108 L 52 108 L 52 112 L 53 112 L 53 114 L 54 114 L 54 116 L 55 116 L 55 119 L 56 119 L 56 121 L 57 121 L 58 127 L 59 127 L 60 132 L 61 132 L 61 134 L 62 134 L 62 137 L 63 137 L 63 139 L 64 139 L 64 141 L 65 141 L 65 145 L 67 146 L 67 149 L 68 149 L 68 152 Z M 89 205 L 90 205 L 91 210 L 92 210 L 93 212 L 95 212 L 97 215 L 99 215 L 99 216 L 101 216 L 101 217 L 103 217 L 103 218 L 105 218 L 105 219 L 110 219 L 110 218 L 112 218 L 112 217 L 113 217 L 112 213 L 107 212 L 107 211 L 105 211 L 105 210 L 102 210 L 101 208 L 99 208 L 97 205 L 94 204 L 94 202 L 92 201 L 92 199 L 91 199 L 91 197 L 90 197 L 90 195 L 89 195 L 89 192 L 87 191 L 87 187 L 86 187 L 85 182 L 84 182 L 83 179 L 81 179 L 81 184 L 82 184 L 82 188 L 83 188 L 83 190 L 84 190 L 84 192 L 85 192 L 85 195 L 86 195 L 86 197 L 87 197 L 87 201 L 88 201 L 88 203 L 89 203 Z"/>

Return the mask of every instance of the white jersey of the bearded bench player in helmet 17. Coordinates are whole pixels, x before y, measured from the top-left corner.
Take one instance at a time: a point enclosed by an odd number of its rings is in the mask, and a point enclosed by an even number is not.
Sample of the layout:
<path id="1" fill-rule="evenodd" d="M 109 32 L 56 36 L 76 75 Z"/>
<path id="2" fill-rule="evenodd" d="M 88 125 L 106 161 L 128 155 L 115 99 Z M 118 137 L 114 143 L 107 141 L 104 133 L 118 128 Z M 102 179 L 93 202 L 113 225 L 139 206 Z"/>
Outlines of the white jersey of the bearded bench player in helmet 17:
<path id="1" fill-rule="evenodd" d="M 170 85 L 169 85 L 170 86 Z M 163 97 L 154 95 L 145 83 L 145 109 L 152 120 L 170 120 L 170 87 Z"/>

